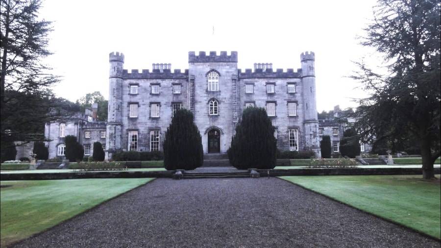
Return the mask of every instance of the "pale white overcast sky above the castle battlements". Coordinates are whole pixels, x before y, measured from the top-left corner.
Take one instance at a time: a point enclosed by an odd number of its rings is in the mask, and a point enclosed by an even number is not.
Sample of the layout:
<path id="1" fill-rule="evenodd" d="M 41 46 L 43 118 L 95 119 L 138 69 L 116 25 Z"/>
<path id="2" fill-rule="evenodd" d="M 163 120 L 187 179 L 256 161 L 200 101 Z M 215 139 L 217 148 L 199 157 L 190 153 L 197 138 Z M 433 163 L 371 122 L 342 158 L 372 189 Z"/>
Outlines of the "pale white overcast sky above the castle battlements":
<path id="1" fill-rule="evenodd" d="M 75 101 L 95 91 L 108 99 L 109 53 L 124 69 L 171 63 L 188 69 L 188 52 L 238 52 L 238 68 L 272 63 L 300 68 L 300 53 L 316 54 L 317 110 L 355 107 L 364 96 L 345 76 L 367 52 L 355 39 L 372 19 L 375 0 L 44 0 L 40 17 L 53 22 L 46 61 L 63 76 L 58 97 Z M 214 29 L 214 32 L 213 32 Z"/>

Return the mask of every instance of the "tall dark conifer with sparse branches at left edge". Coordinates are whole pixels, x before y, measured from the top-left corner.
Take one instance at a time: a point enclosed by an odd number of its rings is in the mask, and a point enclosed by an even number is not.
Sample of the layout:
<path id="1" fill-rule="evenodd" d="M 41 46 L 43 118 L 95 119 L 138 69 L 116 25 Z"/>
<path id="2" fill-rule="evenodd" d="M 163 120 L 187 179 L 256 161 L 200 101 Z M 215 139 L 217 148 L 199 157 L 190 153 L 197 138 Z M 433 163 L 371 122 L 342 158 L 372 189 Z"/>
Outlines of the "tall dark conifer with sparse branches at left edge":
<path id="1" fill-rule="evenodd" d="M 45 123 L 60 117 L 59 81 L 42 59 L 50 55 L 51 22 L 38 16 L 41 0 L 0 0 L 1 150 L 12 141 L 44 140 Z M 63 101 L 63 100 L 61 100 Z"/>

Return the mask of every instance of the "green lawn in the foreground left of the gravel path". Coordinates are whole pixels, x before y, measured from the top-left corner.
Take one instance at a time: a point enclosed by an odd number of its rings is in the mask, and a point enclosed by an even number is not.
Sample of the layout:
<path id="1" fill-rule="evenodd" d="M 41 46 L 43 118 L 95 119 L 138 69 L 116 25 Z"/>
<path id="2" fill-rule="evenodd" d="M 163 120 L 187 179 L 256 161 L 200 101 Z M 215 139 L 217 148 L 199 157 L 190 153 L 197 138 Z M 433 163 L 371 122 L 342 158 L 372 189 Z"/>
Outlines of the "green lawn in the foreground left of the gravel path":
<path id="1" fill-rule="evenodd" d="M 0 245 L 42 232 L 153 179 L 1 181 Z"/>

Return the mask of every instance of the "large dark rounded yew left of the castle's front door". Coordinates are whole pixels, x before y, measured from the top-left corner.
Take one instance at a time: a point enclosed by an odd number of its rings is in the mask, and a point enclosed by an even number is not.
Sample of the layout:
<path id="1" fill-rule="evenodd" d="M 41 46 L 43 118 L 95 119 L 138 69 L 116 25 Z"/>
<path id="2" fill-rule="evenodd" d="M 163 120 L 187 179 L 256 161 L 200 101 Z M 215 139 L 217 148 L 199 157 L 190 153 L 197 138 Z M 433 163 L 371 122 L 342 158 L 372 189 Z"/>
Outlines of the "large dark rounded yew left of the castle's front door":
<path id="1" fill-rule="evenodd" d="M 202 138 L 188 109 L 175 112 L 164 139 L 164 167 L 167 170 L 194 170 L 202 166 Z"/>

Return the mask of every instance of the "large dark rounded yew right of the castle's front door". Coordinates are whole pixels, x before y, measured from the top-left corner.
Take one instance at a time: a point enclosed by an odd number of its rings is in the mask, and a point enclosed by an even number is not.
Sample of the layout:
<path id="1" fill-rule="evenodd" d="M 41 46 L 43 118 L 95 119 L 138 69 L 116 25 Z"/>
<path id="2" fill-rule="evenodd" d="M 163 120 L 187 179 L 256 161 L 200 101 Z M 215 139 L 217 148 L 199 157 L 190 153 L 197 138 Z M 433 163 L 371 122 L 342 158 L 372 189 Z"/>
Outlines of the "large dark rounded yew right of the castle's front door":
<path id="1" fill-rule="evenodd" d="M 245 108 L 227 153 L 230 163 L 237 169 L 275 167 L 277 141 L 274 126 L 264 108 Z"/>

